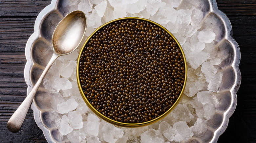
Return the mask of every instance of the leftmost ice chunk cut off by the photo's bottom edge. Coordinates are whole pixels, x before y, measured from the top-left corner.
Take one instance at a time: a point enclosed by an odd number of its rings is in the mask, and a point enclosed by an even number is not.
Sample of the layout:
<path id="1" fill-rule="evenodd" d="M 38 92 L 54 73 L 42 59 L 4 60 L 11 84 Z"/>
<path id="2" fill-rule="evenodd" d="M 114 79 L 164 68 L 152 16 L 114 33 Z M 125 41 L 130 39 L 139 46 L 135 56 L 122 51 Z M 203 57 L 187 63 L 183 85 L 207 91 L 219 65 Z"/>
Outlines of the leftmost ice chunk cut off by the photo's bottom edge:
<path id="1" fill-rule="evenodd" d="M 71 143 L 86 143 L 86 135 L 84 133 L 80 133 L 79 131 L 73 130 L 68 134 L 67 137 Z"/>

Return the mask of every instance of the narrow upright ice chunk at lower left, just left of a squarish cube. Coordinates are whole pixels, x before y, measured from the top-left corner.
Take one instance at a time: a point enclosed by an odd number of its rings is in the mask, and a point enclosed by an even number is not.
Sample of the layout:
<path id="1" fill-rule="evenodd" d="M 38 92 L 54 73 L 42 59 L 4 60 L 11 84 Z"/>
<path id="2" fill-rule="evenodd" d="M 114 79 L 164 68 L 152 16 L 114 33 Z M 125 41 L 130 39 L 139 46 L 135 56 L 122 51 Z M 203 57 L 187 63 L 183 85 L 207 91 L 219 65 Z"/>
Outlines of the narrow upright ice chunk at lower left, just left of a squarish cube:
<path id="1" fill-rule="evenodd" d="M 73 129 L 69 126 L 69 119 L 66 115 L 61 117 L 60 125 L 59 125 L 59 132 L 61 135 L 67 135 L 72 132 Z"/>

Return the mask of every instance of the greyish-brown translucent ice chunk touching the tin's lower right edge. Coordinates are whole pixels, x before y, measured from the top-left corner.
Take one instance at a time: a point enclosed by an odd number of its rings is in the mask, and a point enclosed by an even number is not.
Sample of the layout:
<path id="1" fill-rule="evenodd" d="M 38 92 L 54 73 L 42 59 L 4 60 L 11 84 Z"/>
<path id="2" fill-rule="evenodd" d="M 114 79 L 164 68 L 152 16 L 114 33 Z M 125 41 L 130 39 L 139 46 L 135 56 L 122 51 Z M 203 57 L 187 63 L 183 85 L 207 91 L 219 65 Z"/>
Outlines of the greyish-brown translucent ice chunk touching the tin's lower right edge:
<path id="1" fill-rule="evenodd" d="M 194 118 L 186 104 L 178 104 L 172 112 L 173 117 L 181 121 L 190 122 L 190 120 Z"/>

